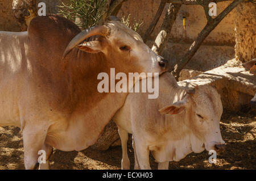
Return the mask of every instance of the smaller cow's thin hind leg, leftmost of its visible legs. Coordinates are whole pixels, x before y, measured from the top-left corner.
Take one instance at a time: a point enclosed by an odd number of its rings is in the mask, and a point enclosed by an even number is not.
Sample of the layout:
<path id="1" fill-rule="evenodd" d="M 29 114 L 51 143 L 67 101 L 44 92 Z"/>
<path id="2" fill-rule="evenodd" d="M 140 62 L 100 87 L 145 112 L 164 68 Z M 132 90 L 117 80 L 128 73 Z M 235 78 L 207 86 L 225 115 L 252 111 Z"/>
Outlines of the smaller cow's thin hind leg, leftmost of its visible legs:
<path id="1" fill-rule="evenodd" d="M 127 153 L 128 133 L 118 127 L 118 133 L 122 142 L 122 169 L 130 169 L 130 160 Z"/>

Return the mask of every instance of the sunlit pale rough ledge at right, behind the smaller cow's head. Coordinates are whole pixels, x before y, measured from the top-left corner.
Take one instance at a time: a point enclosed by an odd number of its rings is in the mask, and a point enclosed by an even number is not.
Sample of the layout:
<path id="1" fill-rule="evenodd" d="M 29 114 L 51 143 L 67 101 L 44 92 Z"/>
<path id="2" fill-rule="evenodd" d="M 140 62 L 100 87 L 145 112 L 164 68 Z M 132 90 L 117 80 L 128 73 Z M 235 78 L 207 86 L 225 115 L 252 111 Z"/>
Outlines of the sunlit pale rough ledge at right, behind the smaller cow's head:
<path id="1" fill-rule="evenodd" d="M 224 109 L 236 112 L 250 107 L 250 100 L 256 92 L 255 75 L 238 65 L 234 59 L 219 68 L 178 83 L 189 89 L 200 85 L 212 85 L 221 95 Z"/>

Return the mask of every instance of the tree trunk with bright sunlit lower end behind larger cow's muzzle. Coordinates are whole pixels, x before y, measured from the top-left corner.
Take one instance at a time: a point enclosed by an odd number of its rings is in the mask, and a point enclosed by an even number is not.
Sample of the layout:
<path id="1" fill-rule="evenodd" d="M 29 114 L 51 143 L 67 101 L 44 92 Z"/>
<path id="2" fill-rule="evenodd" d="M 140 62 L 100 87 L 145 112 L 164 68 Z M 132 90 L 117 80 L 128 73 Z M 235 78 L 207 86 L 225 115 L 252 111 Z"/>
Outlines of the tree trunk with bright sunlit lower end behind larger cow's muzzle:
<path id="1" fill-rule="evenodd" d="M 166 45 L 168 41 L 168 37 L 171 35 L 172 25 L 174 24 L 177 13 L 180 10 L 180 4 L 170 4 L 168 7 L 168 11 L 166 12 L 166 16 L 164 17 L 163 24 L 161 27 L 158 36 L 155 39 L 155 43 L 152 47 L 152 50 L 156 54 L 162 54 L 164 45 Z"/>

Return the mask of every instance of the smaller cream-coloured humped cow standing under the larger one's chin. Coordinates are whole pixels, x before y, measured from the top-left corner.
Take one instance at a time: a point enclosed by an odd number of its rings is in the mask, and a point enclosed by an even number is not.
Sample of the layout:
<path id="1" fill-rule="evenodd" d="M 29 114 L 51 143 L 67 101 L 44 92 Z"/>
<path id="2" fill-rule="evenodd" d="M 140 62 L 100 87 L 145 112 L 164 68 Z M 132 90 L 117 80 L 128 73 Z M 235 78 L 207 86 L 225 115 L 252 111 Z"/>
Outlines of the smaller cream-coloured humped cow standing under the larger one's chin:
<path id="1" fill-rule="evenodd" d="M 135 169 L 150 169 L 150 150 L 159 162 L 158 169 L 168 169 L 170 161 L 179 161 L 192 151 L 224 149 L 220 95 L 212 86 L 196 87 L 192 92 L 188 94 L 165 73 L 159 78 L 158 99 L 148 99 L 147 93 L 127 96 L 114 116 L 122 141 L 122 169 L 130 168 L 128 133 L 133 134 Z"/>

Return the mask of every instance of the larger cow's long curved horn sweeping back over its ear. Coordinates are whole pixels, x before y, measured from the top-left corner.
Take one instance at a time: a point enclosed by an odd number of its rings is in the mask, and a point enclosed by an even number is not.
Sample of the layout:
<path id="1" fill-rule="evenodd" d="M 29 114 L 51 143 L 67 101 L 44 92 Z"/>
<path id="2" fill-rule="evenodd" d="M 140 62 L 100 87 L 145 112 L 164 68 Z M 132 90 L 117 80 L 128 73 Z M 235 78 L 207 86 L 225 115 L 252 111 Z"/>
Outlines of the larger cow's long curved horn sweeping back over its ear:
<path id="1" fill-rule="evenodd" d="M 67 54 L 76 47 L 81 41 L 87 39 L 88 37 L 94 36 L 94 35 L 101 35 L 101 36 L 108 36 L 110 33 L 110 28 L 107 26 L 96 26 L 88 28 L 82 32 L 80 32 L 78 35 L 76 35 L 68 44 L 68 47 L 65 49 L 62 58 L 64 59 Z"/>

